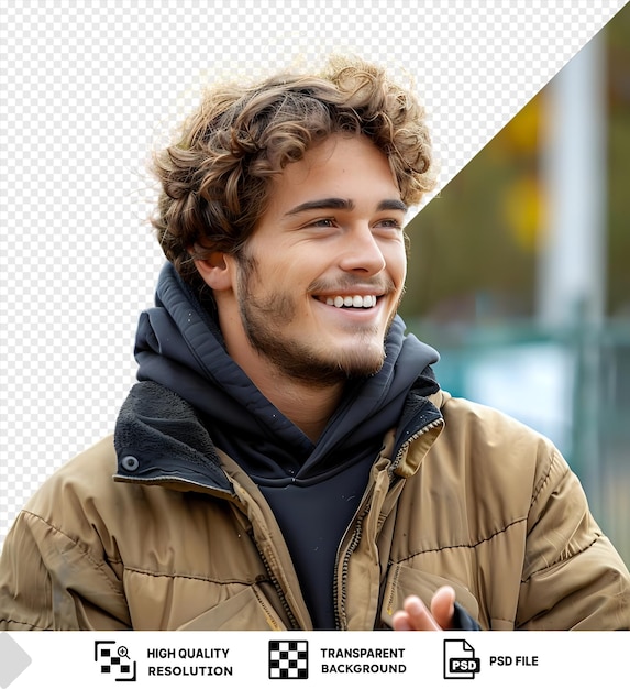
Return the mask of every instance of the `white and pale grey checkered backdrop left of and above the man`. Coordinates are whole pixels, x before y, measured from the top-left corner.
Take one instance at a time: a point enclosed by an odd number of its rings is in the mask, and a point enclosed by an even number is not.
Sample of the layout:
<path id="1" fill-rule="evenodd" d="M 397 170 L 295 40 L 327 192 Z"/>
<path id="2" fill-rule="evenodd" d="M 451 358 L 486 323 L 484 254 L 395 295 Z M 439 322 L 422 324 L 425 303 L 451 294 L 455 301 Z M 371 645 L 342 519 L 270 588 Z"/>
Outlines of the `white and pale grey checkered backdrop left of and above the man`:
<path id="1" fill-rule="evenodd" d="M 443 186 L 623 4 L 0 0 L 0 544 L 134 382 L 145 163 L 205 83 L 331 50 L 410 73 Z"/>

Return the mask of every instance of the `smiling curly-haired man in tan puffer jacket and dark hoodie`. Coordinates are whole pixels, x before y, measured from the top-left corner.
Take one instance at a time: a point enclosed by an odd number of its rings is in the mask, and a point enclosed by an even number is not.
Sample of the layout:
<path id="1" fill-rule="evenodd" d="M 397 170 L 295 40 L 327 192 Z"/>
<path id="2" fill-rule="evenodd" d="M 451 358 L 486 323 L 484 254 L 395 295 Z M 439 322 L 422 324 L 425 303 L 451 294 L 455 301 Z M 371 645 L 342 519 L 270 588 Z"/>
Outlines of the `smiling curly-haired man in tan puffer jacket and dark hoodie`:
<path id="1" fill-rule="evenodd" d="M 405 214 L 433 185 L 410 92 L 344 61 L 220 86 L 155 172 L 140 382 L 16 520 L 2 628 L 630 626 L 557 450 L 451 398 L 405 335 Z"/>

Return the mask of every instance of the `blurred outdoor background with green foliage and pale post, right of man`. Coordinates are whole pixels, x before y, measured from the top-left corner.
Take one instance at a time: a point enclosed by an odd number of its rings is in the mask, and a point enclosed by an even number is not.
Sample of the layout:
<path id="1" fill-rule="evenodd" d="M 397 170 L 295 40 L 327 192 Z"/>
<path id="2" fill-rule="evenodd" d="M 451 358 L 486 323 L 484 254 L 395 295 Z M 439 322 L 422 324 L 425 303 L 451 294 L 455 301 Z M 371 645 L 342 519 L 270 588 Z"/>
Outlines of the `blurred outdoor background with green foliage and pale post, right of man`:
<path id="1" fill-rule="evenodd" d="M 550 436 L 630 565 L 630 4 L 408 232 L 442 386 Z"/>

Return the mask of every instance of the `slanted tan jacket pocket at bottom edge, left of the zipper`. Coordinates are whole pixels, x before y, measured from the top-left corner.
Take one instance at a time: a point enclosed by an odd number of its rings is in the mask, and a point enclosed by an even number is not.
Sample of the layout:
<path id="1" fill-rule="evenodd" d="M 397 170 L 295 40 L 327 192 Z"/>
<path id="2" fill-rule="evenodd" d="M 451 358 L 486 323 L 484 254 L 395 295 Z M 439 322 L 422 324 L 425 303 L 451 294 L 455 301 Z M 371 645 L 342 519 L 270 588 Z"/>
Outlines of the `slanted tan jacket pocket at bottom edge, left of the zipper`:
<path id="1" fill-rule="evenodd" d="M 197 615 L 179 631 L 281 631 L 285 623 L 257 586 L 246 588 L 214 608 Z"/>

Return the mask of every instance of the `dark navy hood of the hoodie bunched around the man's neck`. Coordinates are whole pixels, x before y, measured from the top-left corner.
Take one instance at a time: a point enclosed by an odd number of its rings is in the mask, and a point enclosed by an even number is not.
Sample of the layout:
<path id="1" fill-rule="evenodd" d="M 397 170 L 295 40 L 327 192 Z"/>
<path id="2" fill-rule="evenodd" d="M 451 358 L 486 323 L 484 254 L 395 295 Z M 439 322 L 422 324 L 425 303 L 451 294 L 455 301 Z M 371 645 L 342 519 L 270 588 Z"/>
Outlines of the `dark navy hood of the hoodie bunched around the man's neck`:
<path id="1" fill-rule="evenodd" d="M 141 314 L 135 358 L 137 379 L 176 392 L 199 413 L 213 442 L 258 482 L 319 481 L 347 458 L 378 450 L 400 419 L 411 387 L 438 390 L 431 364 L 438 352 L 396 317 L 382 370 L 349 381 L 342 402 L 313 444 L 279 412 L 228 354 L 212 308 L 201 305 L 170 263 L 158 278 L 155 307 Z"/>

